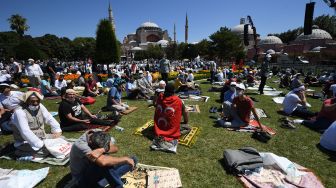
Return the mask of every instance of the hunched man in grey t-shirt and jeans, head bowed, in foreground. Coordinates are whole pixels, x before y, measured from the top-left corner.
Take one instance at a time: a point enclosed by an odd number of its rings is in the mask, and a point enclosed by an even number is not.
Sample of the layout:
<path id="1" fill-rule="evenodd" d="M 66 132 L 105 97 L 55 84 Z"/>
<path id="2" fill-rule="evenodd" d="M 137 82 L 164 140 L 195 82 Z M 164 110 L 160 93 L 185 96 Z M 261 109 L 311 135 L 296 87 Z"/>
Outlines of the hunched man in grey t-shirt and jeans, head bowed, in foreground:
<path id="1" fill-rule="evenodd" d="M 77 187 L 123 187 L 121 176 L 132 171 L 136 157 L 115 157 L 114 139 L 99 129 L 87 131 L 73 145 L 70 170 Z"/>

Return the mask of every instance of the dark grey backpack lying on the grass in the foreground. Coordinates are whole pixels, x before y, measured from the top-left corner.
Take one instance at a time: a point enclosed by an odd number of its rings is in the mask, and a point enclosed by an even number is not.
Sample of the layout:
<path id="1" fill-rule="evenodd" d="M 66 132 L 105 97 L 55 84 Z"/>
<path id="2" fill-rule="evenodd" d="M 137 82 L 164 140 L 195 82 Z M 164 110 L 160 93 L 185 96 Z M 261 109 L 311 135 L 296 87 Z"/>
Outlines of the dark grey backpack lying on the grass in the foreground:
<path id="1" fill-rule="evenodd" d="M 244 174 L 245 170 L 253 170 L 264 166 L 259 152 L 252 147 L 243 147 L 238 150 L 224 150 L 225 168 L 232 174 Z"/>

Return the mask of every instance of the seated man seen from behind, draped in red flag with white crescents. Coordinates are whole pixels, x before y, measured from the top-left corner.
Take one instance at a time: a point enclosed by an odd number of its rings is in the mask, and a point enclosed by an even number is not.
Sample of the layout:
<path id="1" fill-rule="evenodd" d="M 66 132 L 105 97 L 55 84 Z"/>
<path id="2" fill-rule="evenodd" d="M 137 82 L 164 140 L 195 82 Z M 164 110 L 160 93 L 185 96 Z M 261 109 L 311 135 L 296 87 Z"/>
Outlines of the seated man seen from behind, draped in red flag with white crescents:
<path id="1" fill-rule="evenodd" d="M 188 113 L 182 100 L 174 95 L 174 86 L 168 84 L 164 93 L 156 101 L 154 115 L 155 138 L 150 146 L 153 150 L 162 150 L 176 153 L 178 139 L 180 138 L 180 123 L 188 124 Z"/>

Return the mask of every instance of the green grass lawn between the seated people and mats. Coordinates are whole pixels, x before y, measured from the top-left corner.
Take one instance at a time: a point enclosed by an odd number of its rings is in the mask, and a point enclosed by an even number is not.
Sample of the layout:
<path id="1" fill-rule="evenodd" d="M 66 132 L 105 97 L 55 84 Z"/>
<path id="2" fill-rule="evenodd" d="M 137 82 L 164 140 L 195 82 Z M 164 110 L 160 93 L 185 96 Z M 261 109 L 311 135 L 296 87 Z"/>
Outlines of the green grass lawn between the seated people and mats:
<path id="1" fill-rule="evenodd" d="M 270 81 L 268 85 L 275 86 Z M 321 178 L 326 187 L 335 187 L 336 165 L 328 155 L 316 148 L 320 134 L 303 126 L 298 126 L 296 130 L 281 128 L 278 122 L 281 115 L 277 113 L 281 109 L 281 105 L 275 104 L 271 97 L 251 94 L 259 100 L 255 103 L 255 106 L 264 109 L 269 116 L 269 118 L 262 118 L 262 123 L 277 131 L 270 142 L 264 144 L 252 139 L 251 133 L 239 133 L 215 128 L 213 126 L 214 119 L 209 117 L 214 114 L 209 113 L 209 108 L 214 105 L 220 106 L 216 102 L 219 99 L 219 93 L 207 92 L 210 84 L 201 82 L 200 86 L 203 95 L 210 96 L 210 99 L 207 103 L 187 102 L 187 104 L 198 104 L 201 109 L 200 114 L 190 113 L 190 125 L 201 128 L 197 141 L 191 148 L 179 145 L 177 154 L 150 151 L 151 141 L 145 137 L 133 135 L 133 133 L 137 127 L 153 118 L 154 109 L 147 108 L 148 103 L 146 101 L 127 101 L 128 104 L 137 106 L 139 109 L 122 117 L 118 125 L 125 128 L 123 132 L 115 129 L 110 131 L 119 146 L 118 156 L 136 155 L 140 163 L 177 168 L 181 175 L 183 187 L 242 187 L 236 177 L 224 171 L 219 160 L 223 158 L 225 149 L 253 146 L 259 151 L 273 152 L 310 168 Z M 105 105 L 105 101 L 106 96 L 98 97 L 97 102 L 89 106 L 89 109 L 97 112 Z M 308 98 L 308 102 L 312 104 L 313 111 L 318 111 L 321 107 L 321 101 L 318 99 Z M 57 111 L 58 109 L 54 100 L 43 101 L 43 104 L 50 111 Z M 64 133 L 67 138 L 78 138 L 80 135 L 81 133 Z M 3 135 L 0 138 L 0 144 L 13 139 L 12 136 Z M 1 168 L 38 169 L 46 166 L 48 165 L 0 160 Z M 50 166 L 47 178 L 38 187 L 55 187 L 69 173 L 69 167 Z"/>

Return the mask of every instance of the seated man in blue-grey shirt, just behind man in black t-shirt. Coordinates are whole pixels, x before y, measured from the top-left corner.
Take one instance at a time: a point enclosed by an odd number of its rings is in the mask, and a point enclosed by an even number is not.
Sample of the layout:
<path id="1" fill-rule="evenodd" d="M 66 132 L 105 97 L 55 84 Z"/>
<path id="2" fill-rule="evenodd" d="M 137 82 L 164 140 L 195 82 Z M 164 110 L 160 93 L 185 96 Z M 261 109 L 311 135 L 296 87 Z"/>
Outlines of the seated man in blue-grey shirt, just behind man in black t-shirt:
<path id="1" fill-rule="evenodd" d="M 118 82 L 117 86 L 113 86 L 108 95 L 106 101 L 106 107 L 108 110 L 117 110 L 123 112 L 129 108 L 129 106 L 125 103 L 121 102 L 121 92 L 122 92 L 123 82 Z"/>

